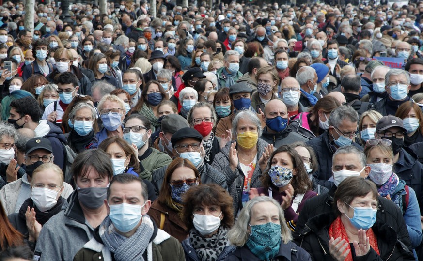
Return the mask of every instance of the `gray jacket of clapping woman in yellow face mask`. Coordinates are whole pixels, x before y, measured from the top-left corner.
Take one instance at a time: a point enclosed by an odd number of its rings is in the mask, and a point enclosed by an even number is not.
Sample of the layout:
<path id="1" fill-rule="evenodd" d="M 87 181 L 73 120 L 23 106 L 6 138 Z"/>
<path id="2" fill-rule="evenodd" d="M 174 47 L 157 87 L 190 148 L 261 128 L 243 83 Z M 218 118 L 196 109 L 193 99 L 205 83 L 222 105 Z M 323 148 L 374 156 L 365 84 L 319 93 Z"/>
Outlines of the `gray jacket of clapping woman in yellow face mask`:
<path id="1" fill-rule="evenodd" d="M 244 187 L 244 172 L 242 172 L 241 167 L 236 167 L 235 171 L 231 170 L 229 165 L 229 148 L 232 142 L 228 142 L 225 147 L 222 148 L 222 151 L 215 156 L 213 160 L 212 167 L 218 170 L 219 173 L 223 173 L 226 176 L 226 184 L 229 187 L 229 194 L 234 199 L 233 206 L 234 206 L 234 213 L 238 213 L 238 210 L 242 208 L 242 189 Z M 254 172 L 251 177 L 251 184 L 250 187 L 259 188 L 262 186 L 260 181 L 260 177 L 262 175 L 262 170 L 258 164 L 259 159 L 261 158 L 265 147 L 267 146 L 267 142 L 263 139 L 258 139 L 257 141 L 257 165 L 254 169 Z M 238 146 L 238 145 L 236 145 Z"/>

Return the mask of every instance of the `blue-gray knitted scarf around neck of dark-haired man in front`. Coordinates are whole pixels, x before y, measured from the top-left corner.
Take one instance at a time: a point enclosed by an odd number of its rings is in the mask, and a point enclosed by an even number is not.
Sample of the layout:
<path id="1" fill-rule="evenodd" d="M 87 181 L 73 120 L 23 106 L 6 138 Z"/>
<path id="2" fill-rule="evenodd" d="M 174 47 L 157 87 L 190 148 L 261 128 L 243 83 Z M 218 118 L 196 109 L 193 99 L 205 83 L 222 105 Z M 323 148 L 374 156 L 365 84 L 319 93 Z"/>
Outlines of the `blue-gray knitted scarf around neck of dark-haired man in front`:
<path id="1" fill-rule="evenodd" d="M 147 249 L 154 232 L 153 221 L 148 215 L 142 216 L 142 223 L 131 237 L 116 232 L 109 216 L 101 222 L 99 234 L 103 244 L 114 253 L 116 260 L 140 260 Z"/>

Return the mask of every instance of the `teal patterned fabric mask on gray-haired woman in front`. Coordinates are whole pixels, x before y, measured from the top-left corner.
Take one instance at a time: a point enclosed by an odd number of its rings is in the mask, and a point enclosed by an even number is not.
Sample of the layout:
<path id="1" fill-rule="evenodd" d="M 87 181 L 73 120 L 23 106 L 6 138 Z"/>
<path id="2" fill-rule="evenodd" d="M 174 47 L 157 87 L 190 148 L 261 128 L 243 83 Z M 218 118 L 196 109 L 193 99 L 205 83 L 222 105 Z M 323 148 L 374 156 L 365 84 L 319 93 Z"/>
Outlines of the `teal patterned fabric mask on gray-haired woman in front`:
<path id="1" fill-rule="evenodd" d="M 249 225 L 251 227 L 250 237 L 247 240 L 247 247 L 260 258 L 260 260 L 271 260 L 274 258 L 281 246 L 281 225 L 272 222 L 262 225 Z"/>

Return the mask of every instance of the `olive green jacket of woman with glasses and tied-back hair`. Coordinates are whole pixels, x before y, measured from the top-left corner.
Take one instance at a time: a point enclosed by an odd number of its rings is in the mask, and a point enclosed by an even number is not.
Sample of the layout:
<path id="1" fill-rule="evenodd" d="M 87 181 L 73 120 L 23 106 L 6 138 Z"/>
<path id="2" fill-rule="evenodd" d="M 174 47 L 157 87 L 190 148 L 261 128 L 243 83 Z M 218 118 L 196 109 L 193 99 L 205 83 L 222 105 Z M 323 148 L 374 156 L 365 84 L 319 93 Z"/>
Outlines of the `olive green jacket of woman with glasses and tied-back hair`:
<path id="1" fill-rule="evenodd" d="M 151 147 L 148 148 L 144 154 L 138 156 L 138 159 L 145 169 L 140 174 L 140 177 L 149 181 L 151 181 L 151 173 L 153 170 L 168 166 L 172 162 L 172 158 L 168 154 L 159 152 L 157 149 Z"/>

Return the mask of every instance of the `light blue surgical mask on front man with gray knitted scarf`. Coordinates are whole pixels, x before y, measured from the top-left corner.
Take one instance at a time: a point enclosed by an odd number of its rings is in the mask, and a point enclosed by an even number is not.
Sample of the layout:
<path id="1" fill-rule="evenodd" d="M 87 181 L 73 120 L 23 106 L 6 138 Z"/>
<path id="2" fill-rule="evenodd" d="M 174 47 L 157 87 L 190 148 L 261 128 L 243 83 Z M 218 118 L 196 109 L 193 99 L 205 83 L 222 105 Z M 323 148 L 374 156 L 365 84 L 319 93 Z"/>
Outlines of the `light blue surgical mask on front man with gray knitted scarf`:
<path id="1" fill-rule="evenodd" d="M 120 232 L 127 233 L 138 225 L 141 220 L 141 209 L 145 203 L 140 205 L 118 204 L 110 206 L 109 218 L 113 226 Z"/>

